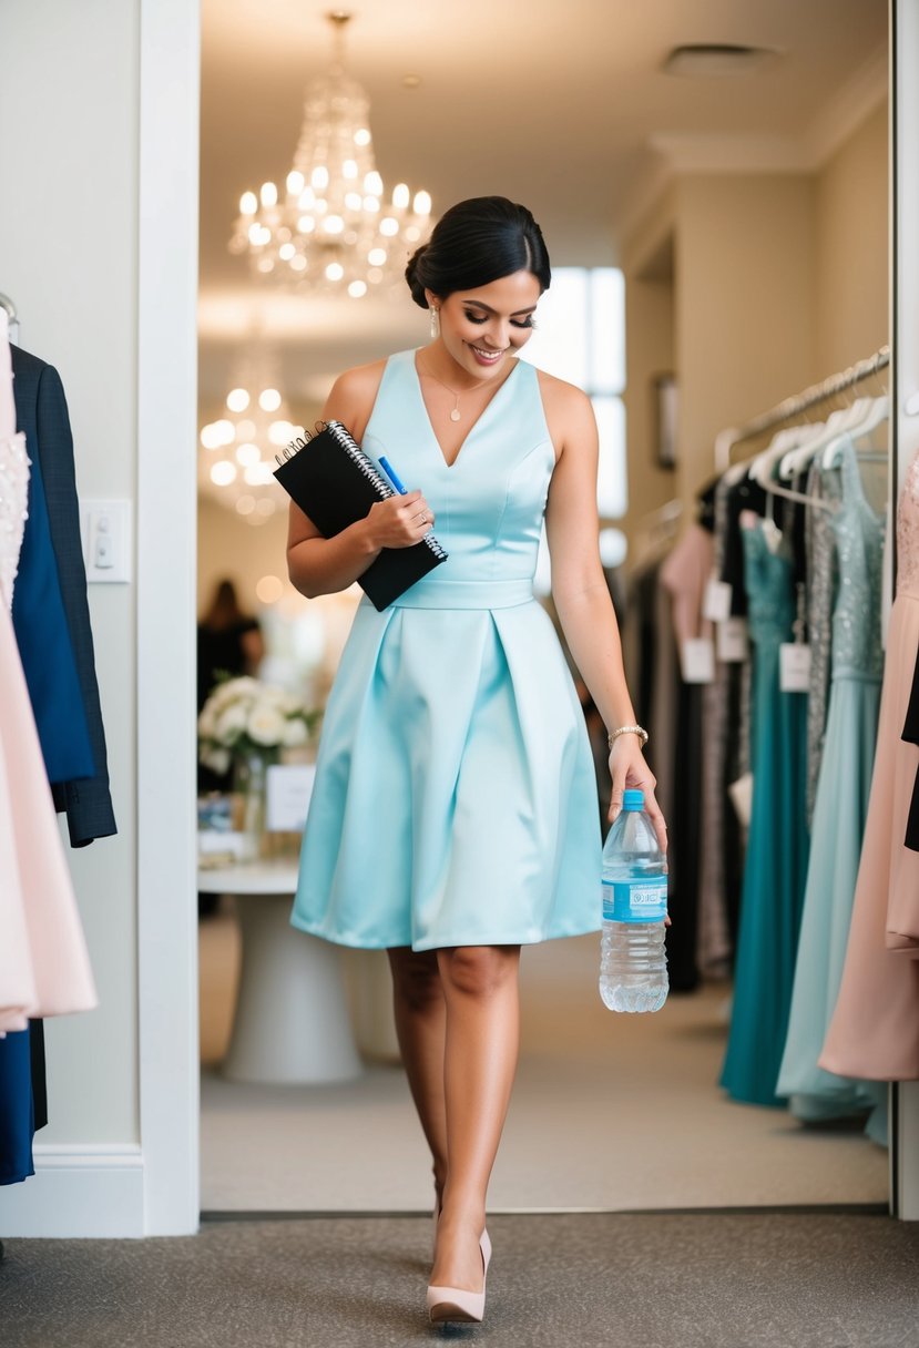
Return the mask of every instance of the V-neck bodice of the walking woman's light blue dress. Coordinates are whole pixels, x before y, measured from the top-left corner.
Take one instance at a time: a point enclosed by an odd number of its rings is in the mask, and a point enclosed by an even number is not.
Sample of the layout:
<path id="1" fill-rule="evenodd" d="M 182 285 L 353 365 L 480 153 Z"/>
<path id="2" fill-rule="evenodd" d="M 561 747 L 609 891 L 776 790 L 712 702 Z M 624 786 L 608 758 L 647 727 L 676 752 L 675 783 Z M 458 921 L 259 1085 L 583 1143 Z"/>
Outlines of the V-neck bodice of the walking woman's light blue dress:
<path id="1" fill-rule="evenodd" d="M 555 466 L 534 365 L 517 361 L 447 465 L 415 352 L 399 352 L 387 361 L 362 448 L 373 458 L 384 454 L 410 489 L 424 493 L 449 554 L 412 586 L 414 601 L 451 582 L 532 581 Z"/>

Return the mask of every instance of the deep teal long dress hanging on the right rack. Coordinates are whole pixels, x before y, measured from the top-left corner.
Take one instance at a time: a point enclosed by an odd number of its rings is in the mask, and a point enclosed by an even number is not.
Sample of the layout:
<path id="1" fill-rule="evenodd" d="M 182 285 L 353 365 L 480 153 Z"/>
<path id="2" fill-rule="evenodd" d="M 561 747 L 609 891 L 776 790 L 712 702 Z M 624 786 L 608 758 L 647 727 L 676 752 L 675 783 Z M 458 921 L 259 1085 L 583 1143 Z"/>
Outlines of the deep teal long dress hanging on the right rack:
<path id="1" fill-rule="evenodd" d="M 779 647 L 791 640 L 792 561 L 761 527 L 742 531 L 753 642 L 751 814 L 728 1050 L 721 1085 L 734 1100 L 780 1105 L 775 1082 L 807 874 L 807 700 L 779 686 Z"/>

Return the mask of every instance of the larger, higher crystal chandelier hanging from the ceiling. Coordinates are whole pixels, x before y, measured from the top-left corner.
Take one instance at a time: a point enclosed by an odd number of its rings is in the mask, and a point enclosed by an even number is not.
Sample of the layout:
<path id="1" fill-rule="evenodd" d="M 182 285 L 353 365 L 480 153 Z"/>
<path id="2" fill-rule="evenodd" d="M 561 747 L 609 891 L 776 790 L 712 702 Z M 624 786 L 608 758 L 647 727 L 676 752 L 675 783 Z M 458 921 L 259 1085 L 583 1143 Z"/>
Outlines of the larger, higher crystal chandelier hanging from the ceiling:
<path id="1" fill-rule="evenodd" d="M 371 136 L 371 104 L 345 73 L 350 15 L 326 15 L 334 32 L 329 73 L 311 85 L 283 201 L 274 182 L 243 193 L 230 252 L 248 255 L 256 276 L 360 299 L 400 279 L 427 236 L 431 198 L 404 182 L 384 202 Z"/>

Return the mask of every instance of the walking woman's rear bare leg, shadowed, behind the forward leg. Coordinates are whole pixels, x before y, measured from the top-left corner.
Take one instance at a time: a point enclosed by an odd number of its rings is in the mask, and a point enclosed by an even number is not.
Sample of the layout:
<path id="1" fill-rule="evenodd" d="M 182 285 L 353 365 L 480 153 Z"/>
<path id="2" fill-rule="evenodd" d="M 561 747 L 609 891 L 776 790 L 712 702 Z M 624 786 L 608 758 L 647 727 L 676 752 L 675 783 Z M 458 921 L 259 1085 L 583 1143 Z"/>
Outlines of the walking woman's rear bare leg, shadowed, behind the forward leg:
<path id="1" fill-rule="evenodd" d="M 443 1101 L 446 1003 L 434 950 L 399 946 L 387 952 L 392 969 L 396 1037 L 418 1117 L 434 1158 L 438 1201 L 447 1173 L 447 1130 Z"/>

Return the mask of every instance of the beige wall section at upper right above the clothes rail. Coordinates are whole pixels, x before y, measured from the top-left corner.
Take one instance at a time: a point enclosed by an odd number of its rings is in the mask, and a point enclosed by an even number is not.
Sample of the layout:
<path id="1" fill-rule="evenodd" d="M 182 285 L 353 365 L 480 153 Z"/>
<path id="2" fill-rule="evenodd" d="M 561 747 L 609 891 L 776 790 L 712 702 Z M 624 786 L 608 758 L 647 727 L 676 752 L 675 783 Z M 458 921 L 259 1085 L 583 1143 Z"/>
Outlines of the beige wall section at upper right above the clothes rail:
<path id="1" fill-rule="evenodd" d="M 887 100 L 817 175 L 817 368 L 864 360 L 888 340 Z"/>

